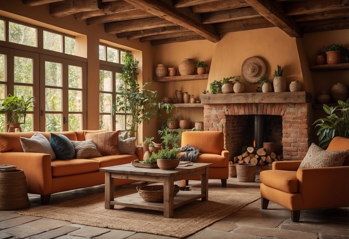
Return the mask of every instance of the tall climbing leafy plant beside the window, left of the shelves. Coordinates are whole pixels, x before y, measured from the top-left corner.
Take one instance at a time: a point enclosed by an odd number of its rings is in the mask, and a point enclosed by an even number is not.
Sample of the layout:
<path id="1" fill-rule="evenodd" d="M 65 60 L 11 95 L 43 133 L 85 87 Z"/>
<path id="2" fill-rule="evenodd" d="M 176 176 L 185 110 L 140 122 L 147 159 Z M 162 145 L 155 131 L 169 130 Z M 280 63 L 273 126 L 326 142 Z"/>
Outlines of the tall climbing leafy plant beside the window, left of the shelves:
<path id="1" fill-rule="evenodd" d="M 145 83 L 142 88 L 138 84 L 137 66 L 138 61 L 134 59 L 132 54 L 125 54 L 125 67 L 122 68 L 120 77 L 124 84 L 120 84 L 117 88 L 116 102 L 113 103 L 113 113 L 130 112 L 131 117 L 127 120 L 127 131 L 134 136 L 138 130 L 138 125 L 142 121 L 149 121 L 155 115 L 161 115 L 161 110 L 166 108 L 166 113 L 170 113 L 174 105 L 159 101 L 157 98 L 157 91 L 151 91 L 147 87 L 150 82 Z"/>

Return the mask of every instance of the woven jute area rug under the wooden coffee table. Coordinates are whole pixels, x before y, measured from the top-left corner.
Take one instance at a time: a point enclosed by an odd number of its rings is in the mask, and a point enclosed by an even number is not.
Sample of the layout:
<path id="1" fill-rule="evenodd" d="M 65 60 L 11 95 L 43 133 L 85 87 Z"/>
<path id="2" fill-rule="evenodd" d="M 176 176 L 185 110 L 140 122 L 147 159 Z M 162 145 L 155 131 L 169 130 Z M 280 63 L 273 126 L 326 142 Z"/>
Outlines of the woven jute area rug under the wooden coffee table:
<path id="1" fill-rule="evenodd" d="M 118 196 L 137 192 L 132 188 L 116 188 Z M 196 200 L 174 209 L 173 218 L 164 218 L 162 211 L 114 206 L 104 209 L 104 193 L 87 196 L 57 205 L 29 209 L 19 214 L 47 217 L 100 228 L 146 232 L 185 238 L 219 221 L 260 195 L 209 191 L 209 201 Z"/>

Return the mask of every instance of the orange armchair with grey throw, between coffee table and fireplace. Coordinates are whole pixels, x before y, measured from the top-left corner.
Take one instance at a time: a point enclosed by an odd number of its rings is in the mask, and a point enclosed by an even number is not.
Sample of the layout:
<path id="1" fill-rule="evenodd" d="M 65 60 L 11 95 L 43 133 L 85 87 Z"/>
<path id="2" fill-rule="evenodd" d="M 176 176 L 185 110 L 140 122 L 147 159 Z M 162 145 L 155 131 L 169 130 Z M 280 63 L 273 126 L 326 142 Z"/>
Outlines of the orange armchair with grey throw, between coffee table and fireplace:
<path id="1" fill-rule="evenodd" d="M 198 148 L 197 163 L 212 163 L 209 179 L 221 179 L 222 187 L 227 187 L 229 178 L 229 151 L 224 149 L 224 134 L 217 131 L 186 131 L 182 133 L 181 147 L 190 145 Z M 180 153 L 181 156 L 184 153 Z M 187 180 L 201 180 L 200 176 Z"/>

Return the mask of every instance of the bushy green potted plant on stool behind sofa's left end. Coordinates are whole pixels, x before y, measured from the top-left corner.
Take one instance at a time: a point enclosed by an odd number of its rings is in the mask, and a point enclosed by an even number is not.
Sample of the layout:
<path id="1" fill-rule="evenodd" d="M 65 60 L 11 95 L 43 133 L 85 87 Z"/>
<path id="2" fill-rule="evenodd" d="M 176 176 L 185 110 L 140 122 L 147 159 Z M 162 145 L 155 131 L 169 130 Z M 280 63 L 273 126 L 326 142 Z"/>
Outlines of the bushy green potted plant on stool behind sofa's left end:
<path id="1" fill-rule="evenodd" d="M 9 94 L 1 104 L 3 108 L 0 109 L 0 113 L 8 114 L 9 127 L 19 127 L 20 124 L 25 123 L 25 113 L 34 107 L 34 102 L 35 97 L 30 97 L 26 100 L 23 96 L 17 97 Z"/>

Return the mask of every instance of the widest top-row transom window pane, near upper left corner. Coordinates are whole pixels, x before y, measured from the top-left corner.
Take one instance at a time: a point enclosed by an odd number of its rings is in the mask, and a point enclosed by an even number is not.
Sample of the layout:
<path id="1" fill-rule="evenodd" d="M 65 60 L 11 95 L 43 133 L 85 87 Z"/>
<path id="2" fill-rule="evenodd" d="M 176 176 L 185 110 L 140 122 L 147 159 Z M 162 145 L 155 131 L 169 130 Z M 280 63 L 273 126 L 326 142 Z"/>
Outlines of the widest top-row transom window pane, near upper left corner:
<path id="1" fill-rule="evenodd" d="M 8 40 L 12 43 L 36 47 L 37 29 L 14 22 L 8 23 Z"/>

